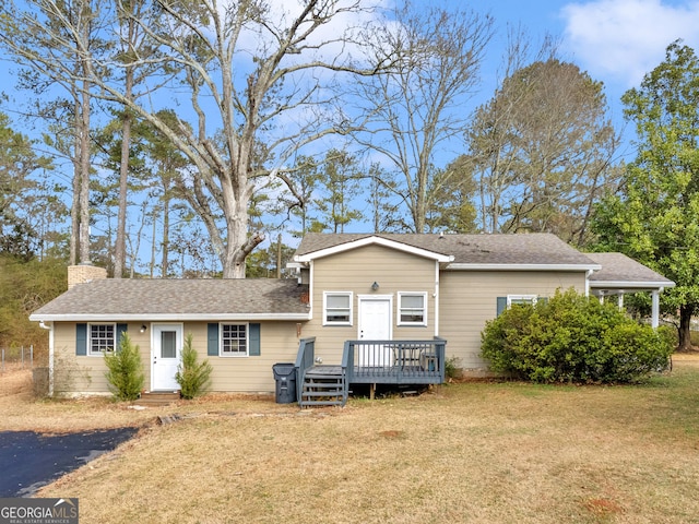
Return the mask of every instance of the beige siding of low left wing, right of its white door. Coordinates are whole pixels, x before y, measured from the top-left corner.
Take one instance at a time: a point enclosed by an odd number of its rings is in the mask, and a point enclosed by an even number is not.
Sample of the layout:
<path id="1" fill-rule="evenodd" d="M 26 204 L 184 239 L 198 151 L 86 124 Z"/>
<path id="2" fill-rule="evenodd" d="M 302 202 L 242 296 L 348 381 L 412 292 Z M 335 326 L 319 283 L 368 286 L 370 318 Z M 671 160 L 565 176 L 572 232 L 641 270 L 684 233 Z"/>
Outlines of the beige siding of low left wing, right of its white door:
<path id="1" fill-rule="evenodd" d="M 238 322 L 225 322 L 236 324 Z M 247 322 L 239 322 L 245 324 Z M 206 322 L 186 322 L 185 335 L 191 332 L 200 359 L 208 359 L 214 371 L 211 391 L 270 393 L 275 382 L 272 366 L 295 362 L 298 337 L 295 322 L 260 322 L 260 356 L 213 357 L 206 355 Z"/>

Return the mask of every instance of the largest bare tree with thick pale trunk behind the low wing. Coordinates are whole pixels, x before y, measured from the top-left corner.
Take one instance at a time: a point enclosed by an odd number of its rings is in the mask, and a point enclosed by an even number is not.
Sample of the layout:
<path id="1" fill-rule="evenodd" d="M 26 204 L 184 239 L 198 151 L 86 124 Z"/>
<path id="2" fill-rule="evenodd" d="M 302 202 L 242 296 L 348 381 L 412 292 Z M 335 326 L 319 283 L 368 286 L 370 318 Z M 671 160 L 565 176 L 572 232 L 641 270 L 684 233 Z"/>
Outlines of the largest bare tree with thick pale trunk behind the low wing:
<path id="1" fill-rule="evenodd" d="M 27 3 L 39 1 L 58 3 Z M 348 46 L 357 49 L 347 21 L 355 21 L 355 33 L 366 28 L 369 10 L 359 0 L 310 0 L 280 11 L 261 0 L 158 0 L 156 5 L 157 23 L 118 2 L 120 14 L 162 51 L 159 57 L 135 56 L 128 67 L 158 64 L 177 75 L 168 93 L 180 107 L 178 124 L 158 117 L 162 107 L 152 107 L 153 98 L 138 92 L 127 96 L 121 85 L 103 78 L 104 69 L 127 67 L 121 60 L 83 49 L 87 67 L 76 78 L 98 85 L 100 96 L 150 121 L 189 158 L 196 171 L 181 179 L 183 194 L 205 224 L 223 276 L 242 277 L 246 257 L 263 240 L 261 233 L 249 230 L 253 192 L 273 181 L 305 144 L 352 128 L 325 88 L 336 74 L 323 71 L 374 74 L 380 68 L 357 67 L 347 51 Z M 61 23 L 60 31 L 74 29 L 70 20 Z"/>

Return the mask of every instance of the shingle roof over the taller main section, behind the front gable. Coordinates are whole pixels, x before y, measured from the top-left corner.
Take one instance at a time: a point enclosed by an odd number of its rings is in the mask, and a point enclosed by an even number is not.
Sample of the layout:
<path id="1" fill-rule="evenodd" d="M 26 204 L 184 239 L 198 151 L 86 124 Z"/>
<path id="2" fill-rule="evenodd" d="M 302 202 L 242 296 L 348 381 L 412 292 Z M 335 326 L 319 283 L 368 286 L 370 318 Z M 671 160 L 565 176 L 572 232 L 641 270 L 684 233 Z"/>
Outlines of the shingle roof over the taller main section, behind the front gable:
<path id="1" fill-rule="evenodd" d="M 585 254 L 546 233 L 523 235 L 307 234 L 296 254 L 310 254 L 363 238 L 380 237 L 439 254 L 454 264 L 594 265 Z"/>

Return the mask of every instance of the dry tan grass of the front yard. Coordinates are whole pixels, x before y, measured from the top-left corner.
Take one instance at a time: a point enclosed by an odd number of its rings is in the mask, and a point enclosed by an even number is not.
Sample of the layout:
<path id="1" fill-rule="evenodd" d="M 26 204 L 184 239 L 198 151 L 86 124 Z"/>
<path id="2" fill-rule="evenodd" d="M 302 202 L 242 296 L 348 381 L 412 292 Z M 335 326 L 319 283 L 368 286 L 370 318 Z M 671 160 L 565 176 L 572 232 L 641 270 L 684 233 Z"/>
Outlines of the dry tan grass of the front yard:
<path id="1" fill-rule="evenodd" d="M 696 357 L 643 385 L 466 382 L 343 409 L 8 398 L 0 429 L 143 426 L 37 493 L 79 497 L 82 523 L 699 523 Z"/>

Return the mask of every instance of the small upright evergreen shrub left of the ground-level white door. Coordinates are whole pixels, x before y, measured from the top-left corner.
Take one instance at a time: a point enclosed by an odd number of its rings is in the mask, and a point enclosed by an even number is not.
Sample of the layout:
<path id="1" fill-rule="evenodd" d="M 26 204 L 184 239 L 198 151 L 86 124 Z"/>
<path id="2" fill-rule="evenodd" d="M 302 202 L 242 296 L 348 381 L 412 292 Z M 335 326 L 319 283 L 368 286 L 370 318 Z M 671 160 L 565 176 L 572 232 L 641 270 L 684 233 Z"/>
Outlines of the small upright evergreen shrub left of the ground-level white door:
<path id="1" fill-rule="evenodd" d="M 141 364 L 139 346 L 131 344 L 127 333 L 121 335 L 119 348 L 116 352 L 105 352 L 107 365 L 107 381 L 109 390 L 118 401 L 134 401 L 141 394 L 145 377 Z"/>

